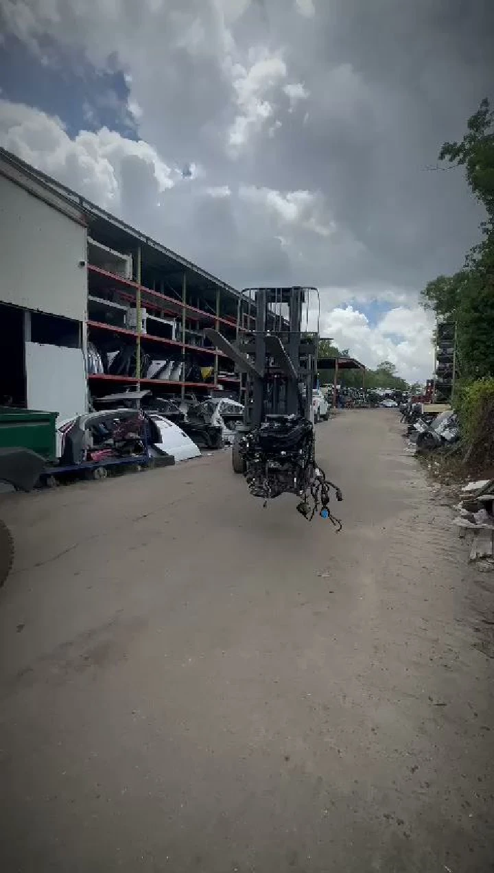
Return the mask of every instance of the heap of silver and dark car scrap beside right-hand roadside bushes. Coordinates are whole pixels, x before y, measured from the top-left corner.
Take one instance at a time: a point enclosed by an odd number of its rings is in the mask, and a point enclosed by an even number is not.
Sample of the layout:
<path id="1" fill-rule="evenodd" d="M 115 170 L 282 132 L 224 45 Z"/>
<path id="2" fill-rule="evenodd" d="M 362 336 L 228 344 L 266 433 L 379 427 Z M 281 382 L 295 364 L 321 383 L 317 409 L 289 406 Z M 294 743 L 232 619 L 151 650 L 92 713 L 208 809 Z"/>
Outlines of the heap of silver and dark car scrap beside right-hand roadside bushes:
<path id="1" fill-rule="evenodd" d="M 406 436 L 419 451 L 440 449 L 456 443 L 460 438 L 458 416 L 454 409 L 437 409 L 427 403 L 409 403 L 401 406 L 400 411 L 401 421 L 407 424 Z"/>

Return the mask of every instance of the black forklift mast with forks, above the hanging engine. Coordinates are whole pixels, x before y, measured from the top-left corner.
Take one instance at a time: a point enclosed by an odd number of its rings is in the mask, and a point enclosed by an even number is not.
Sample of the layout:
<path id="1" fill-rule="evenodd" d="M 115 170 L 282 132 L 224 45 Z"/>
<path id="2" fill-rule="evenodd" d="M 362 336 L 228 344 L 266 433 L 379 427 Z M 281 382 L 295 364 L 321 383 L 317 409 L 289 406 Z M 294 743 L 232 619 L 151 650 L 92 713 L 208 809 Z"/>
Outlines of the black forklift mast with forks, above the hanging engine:
<path id="1" fill-rule="evenodd" d="M 317 333 L 302 331 L 304 309 L 315 288 L 246 288 L 237 307 L 237 342 L 218 331 L 205 333 L 243 374 L 244 425 L 259 427 L 267 416 L 312 420 Z"/>

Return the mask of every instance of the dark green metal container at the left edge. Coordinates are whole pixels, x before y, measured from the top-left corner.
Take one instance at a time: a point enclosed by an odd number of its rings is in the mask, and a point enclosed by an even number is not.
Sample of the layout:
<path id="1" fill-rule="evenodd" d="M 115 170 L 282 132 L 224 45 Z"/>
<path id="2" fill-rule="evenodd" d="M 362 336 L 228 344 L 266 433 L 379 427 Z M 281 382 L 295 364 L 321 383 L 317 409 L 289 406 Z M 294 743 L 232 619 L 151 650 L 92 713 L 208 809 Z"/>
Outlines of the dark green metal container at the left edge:
<path id="1" fill-rule="evenodd" d="M 57 416 L 58 412 L 0 407 L 0 449 L 31 449 L 55 461 Z"/>

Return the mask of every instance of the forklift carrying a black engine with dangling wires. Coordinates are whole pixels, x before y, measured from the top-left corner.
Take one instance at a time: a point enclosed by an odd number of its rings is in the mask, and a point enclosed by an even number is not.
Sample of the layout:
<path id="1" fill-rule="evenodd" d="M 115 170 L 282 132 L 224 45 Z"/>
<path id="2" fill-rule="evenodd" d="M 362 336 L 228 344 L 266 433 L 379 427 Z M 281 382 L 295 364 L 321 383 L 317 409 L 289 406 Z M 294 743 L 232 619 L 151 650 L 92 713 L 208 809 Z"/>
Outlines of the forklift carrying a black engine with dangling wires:
<path id="1" fill-rule="evenodd" d="M 295 494 L 305 519 L 315 513 L 341 529 L 329 509 L 330 489 L 315 460 L 312 388 L 318 360 L 318 333 L 308 325 L 311 293 L 317 288 L 246 288 L 237 310 L 237 340 L 207 328 L 204 333 L 242 374 L 244 424 L 232 446 L 233 471 L 246 479 L 250 493 L 268 500 Z"/>

